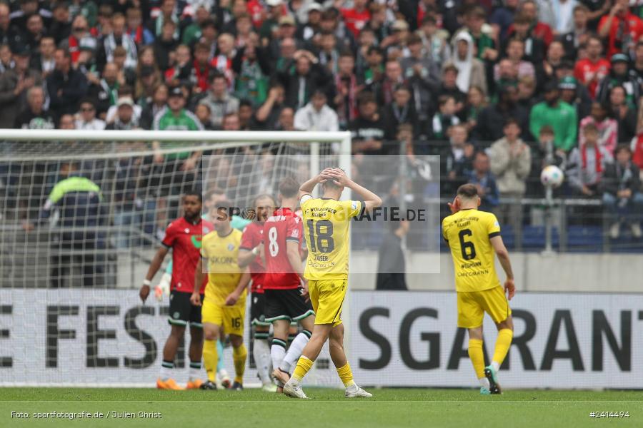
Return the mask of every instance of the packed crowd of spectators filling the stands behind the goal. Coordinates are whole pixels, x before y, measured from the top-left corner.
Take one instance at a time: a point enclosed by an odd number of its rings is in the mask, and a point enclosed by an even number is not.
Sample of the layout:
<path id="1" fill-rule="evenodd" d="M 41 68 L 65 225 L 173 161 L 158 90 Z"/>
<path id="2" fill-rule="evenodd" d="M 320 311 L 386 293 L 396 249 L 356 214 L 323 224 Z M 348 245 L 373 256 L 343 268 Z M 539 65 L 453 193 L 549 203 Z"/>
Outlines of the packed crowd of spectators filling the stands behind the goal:
<path id="1" fill-rule="evenodd" d="M 514 230 L 504 201 L 541 197 L 554 164 L 559 194 L 601 198 L 612 238 L 620 220 L 641 238 L 642 16 L 628 0 L 2 2 L 0 127 L 349 130 L 354 153 L 441 155 L 443 195 L 475 183 Z"/>

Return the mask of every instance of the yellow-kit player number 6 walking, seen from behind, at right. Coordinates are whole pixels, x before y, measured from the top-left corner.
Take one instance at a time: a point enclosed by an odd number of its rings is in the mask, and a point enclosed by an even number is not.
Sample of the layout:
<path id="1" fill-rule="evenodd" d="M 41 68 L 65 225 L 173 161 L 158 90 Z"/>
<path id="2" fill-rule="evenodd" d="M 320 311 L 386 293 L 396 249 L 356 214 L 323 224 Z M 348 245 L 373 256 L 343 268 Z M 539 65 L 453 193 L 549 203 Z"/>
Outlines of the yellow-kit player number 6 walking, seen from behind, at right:
<path id="1" fill-rule="evenodd" d="M 469 330 L 469 358 L 479 379 L 480 394 L 501 394 L 498 370 L 514 336 L 509 300 L 514 297 L 514 274 L 509 253 L 500 236 L 500 225 L 492 213 L 479 211 L 480 198 L 475 185 L 458 188 L 452 215 L 442 220 L 442 235 L 451 248 L 458 295 L 458 327 Z M 507 280 L 501 287 L 494 253 Z M 507 296 L 505 296 L 505 293 Z M 498 328 L 491 365 L 484 367 L 482 319 L 487 312 Z"/>

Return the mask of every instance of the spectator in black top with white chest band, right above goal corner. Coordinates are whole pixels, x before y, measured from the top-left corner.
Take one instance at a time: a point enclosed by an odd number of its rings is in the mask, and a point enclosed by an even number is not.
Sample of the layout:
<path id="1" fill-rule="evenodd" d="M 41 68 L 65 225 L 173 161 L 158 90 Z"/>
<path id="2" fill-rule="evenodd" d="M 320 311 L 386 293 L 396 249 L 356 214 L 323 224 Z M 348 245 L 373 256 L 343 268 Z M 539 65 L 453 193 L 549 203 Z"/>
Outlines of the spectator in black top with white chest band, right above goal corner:
<path id="1" fill-rule="evenodd" d="M 354 153 L 384 154 L 388 146 L 384 144 L 386 123 L 379 114 L 375 96 L 362 92 L 357 100 L 359 116 L 349 125 L 353 139 Z"/>

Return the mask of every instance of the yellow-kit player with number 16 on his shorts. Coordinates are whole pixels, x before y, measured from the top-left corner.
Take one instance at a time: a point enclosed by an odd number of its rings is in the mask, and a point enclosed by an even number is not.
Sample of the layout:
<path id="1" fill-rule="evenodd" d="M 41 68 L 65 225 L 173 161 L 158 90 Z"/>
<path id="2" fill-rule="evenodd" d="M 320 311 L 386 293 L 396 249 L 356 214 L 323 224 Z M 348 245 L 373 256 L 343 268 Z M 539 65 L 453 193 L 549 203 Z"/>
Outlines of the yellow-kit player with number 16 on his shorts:
<path id="1" fill-rule="evenodd" d="M 235 377 L 231 389 L 243 389 L 248 355 L 244 345 L 244 319 L 250 272 L 237 265 L 243 233 L 230 224 L 231 206 L 229 201 L 220 200 L 210 211 L 214 231 L 205 235 L 201 241 L 201 259 L 194 273 L 194 279 L 199 281 L 207 274 L 208 283 L 202 303 L 198 292 L 192 293 L 190 297 L 193 305 L 202 305 L 203 360 L 208 382 L 201 385 L 201 389 L 216 389 L 216 365 L 219 357 L 222 357 L 216 350 L 216 341 L 223 332 L 229 335 L 232 345 Z"/>

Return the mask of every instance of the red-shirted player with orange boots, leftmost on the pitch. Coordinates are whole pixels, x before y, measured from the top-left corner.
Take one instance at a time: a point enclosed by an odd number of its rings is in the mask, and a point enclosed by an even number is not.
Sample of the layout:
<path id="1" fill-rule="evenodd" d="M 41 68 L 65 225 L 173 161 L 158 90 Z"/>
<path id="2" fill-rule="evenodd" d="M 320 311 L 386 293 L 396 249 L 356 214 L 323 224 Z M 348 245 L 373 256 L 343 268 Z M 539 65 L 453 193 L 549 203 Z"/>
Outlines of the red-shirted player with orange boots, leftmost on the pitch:
<path id="1" fill-rule="evenodd" d="M 194 270 L 201 257 L 201 239 L 203 235 L 214 229 L 211 223 L 201 220 L 202 204 L 201 193 L 196 190 L 191 190 L 183 195 L 184 216 L 174 220 L 167 227 L 161 248 L 154 255 L 139 292 L 141 300 L 145 302 L 149 296 L 151 280 L 171 249 L 172 264 L 174 265 L 170 285 L 168 317 L 171 332 L 163 348 L 161 374 L 159 379 L 156 380 L 156 387 L 159 389 L 184 389 L 176 384 L 172 369 L 174 368 L 176 350 L 185 334 L 185 327 L 188 323 L 190 325 L 190 370 L 187 389 L 198 389 L 203 383 L 200 379 L 201 354 L 203 351 L 201 307 L 194 306 L 190 302 L 190 296 L 194 290 Z M 204 293 L 206 280 L 197 285 L 201 290 L 201 295 Z"/>

